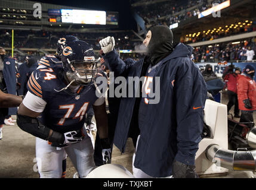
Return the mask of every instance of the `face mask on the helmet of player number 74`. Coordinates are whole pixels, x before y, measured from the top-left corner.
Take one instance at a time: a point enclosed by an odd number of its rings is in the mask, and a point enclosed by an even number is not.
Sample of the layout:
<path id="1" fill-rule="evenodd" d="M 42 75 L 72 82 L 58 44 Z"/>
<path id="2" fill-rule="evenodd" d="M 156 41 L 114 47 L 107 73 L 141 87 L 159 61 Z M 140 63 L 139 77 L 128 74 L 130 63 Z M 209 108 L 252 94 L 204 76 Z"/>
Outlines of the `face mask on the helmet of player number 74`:
<path id="1" fill-rule="evenodd" d="M 94 82 L 100 66 L 100 62 L 85 62 L 83 60 L 74 60 L 70 62 L 72 71 L 67 71 L 67 76 L 79 85 L 90 85 Z"/>

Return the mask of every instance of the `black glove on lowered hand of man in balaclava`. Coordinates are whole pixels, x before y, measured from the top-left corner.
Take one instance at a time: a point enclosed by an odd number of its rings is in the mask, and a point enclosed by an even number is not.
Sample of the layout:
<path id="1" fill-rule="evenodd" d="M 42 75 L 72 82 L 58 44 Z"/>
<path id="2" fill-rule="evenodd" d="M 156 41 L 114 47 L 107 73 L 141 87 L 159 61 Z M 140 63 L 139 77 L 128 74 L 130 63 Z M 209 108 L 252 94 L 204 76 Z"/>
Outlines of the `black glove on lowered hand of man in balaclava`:
<path id="1" fill-rule="evenodd" d="M 187 165 L 177 160 L 172 163 L 173 178 L 199 178 L 196 174 L 196 166 Z"/>

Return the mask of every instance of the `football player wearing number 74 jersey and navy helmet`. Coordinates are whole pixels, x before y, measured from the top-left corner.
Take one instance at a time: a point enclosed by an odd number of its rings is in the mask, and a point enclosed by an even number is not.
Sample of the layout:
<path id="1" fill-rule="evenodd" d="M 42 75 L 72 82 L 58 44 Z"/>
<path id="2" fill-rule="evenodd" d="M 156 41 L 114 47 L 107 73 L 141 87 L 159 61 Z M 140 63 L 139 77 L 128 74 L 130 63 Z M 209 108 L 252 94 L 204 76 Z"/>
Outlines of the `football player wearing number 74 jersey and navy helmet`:
<path id="1" fill-rule="evenodd" d="M 95 78 L 103 76 L 91 46 L 80 40 L 64 45 L 63 67 L 37 69 L 27 83 L 17 124 L 36 137 L 36 160 L 41 178 L 61 178 L 64 151 L 80 178 L 95 169 L 93 148 L 84 126 L 85 113 L 94 108 L 105 163 L 110 163 L 104 97 L 96 96 Z"/>

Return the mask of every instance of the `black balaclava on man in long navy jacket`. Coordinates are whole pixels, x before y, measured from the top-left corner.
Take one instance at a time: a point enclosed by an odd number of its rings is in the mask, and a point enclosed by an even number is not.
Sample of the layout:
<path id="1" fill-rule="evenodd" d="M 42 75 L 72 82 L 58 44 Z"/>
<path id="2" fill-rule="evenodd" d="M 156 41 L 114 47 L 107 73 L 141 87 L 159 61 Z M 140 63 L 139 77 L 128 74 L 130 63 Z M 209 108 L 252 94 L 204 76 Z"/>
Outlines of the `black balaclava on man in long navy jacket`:
<path id="1" fill-rule="evenodd" d="M 173 34 L 167 26 L 154 26 L 150 31 L 152 36 L 147 46 L 147 56 L 151 64 L 156 65 L 173 51 Z"/>

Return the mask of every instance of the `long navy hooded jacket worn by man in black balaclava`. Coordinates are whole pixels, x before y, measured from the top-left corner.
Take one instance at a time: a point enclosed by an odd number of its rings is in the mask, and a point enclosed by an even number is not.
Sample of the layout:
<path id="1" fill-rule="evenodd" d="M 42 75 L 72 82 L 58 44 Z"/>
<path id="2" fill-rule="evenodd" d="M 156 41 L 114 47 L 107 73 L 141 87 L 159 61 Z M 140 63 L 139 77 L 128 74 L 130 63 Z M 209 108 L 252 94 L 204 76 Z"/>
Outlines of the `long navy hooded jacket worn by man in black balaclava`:
<path id="1" fill-rule="evenodd" d="M 206 84 L 198 67 L 190 60 L 193 48 L 179 43 L 174 51 L 153 67 L 149 66 L 147 78 L 153 78 L 153 87 L 160 85 L 157 104 L 147 104 L 142 98 L 138 110 L 140 141 L 134 166 L 153 177 L 172 175 L 172 162 L 193 165 L 203 129 L 203 108 Z M 113 50 L 104 56 L 115 77 L 140 77 L 143 59 L 125 64 Z M 160 83 L 155 83 L 160 77 Z M 155 88 L 157 89 L 157 88 Z M 150 100 L 150 97 L 147 97 Z M 134 110 L 135 97 L 122 97 L 114 144 L 123 153 Z"/>

